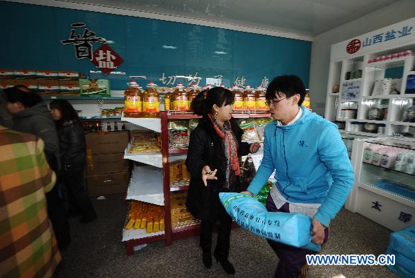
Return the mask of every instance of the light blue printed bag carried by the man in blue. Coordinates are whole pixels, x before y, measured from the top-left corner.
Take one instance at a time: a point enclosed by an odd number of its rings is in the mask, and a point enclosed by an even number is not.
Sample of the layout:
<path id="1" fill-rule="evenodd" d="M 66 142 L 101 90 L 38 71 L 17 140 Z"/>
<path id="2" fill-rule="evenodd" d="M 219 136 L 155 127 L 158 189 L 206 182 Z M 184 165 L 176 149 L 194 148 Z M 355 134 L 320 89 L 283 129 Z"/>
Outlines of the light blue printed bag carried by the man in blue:
<path id="1" fill-rule="evenodd" d="M 230 217 L 255 235 L 320 252 L 321 246 L 311 242 L 310 217 L 301 213 L 268 212 L 254 197 L 241 193 L 221 192 L 219 199 Z"/>

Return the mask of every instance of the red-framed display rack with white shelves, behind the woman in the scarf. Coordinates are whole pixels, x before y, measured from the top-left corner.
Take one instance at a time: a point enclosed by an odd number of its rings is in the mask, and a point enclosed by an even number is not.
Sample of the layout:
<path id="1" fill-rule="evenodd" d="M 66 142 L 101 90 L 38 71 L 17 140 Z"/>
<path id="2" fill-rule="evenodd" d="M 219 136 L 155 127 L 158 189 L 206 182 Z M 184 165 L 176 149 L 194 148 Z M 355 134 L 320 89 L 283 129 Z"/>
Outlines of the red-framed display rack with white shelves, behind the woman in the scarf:
<path id="1" fill-rule="evenodd" d="M 232 117 L 269 117 L 269 113 L 259 111 L 243 111 L 232 114 Z M 173 240 L 183 237 L 198 235 L 199 224 L 190 224 L 177 228 L 172 227 L 172 215 L 170 210 L 170 192 L 188 190 L 188 182 L 170 183 L 169 162 L 185 159 L 187 149 L 169 149 L 168 121 L 170 119 L 198 119 L 197 115 L 189 112 L 162 111 L 160 118 L 129 118 L 122 117 L 122 121 L 128 121 L 134 125 L 148 128 L 161 133 L 161 153 L 130 154 L 130 145 L 124 151 L 124 159 L 131 159 L 150 166 L 136 166 L 131 175 L 126 199 L 135 199 L 154 203 L 165 207 L 165 231 L 145 234 L 142 230 L 123 230 L 122 239 L 126 244 L 127 255 L 133 254 L 133 246 L 146 244 L 153 241 L 165 240 L 166 246 Z"/>

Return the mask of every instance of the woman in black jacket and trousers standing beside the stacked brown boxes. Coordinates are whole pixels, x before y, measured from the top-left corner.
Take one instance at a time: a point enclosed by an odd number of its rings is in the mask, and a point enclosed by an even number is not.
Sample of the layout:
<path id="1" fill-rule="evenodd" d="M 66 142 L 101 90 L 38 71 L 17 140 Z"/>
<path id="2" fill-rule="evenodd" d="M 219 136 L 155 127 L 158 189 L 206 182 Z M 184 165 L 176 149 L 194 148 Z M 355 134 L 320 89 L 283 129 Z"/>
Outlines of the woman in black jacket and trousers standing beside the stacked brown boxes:
<path id="1" fill-rule="evenodd" d="M 77 112 L 66 100 L 50 102 L 50 114 L 57 124 L 59 154 L 62 162 L 60 179 L 68 192 L 69 216 L 82 215 L 80 221 L 87 223 L 97 218 L 84 186 L 86 159 L 84 129 Z"/>

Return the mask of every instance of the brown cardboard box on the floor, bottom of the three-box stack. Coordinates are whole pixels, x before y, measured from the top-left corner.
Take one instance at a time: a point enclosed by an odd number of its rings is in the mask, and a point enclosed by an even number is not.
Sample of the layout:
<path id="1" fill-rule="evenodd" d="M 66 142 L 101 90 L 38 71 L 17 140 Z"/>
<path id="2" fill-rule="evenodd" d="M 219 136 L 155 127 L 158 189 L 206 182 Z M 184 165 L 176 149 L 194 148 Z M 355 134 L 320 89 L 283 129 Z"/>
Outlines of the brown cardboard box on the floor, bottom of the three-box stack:
<path id="1" fill-rule="evenodd" d="M 89 196 L 127 192 L 129 172 L 111 172 L 86 176 Z"/>

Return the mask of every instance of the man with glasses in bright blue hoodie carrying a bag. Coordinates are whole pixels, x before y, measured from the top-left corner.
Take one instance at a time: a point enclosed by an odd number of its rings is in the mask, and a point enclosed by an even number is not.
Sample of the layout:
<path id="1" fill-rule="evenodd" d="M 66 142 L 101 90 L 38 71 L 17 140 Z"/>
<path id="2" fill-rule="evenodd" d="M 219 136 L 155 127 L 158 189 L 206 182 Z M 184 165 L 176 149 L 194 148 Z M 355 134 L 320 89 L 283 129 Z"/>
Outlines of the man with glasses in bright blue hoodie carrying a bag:
<path id="1" fill-rule="evenodd" d="M 265 128 L 264 157 L 245 193 L 257 195 L 275 170 L 277 183 L 266 208 L 312 217 L 313 242 L 324 244 L 354 173 L 337 126 L 301 106 L 305 95 L 304 83 L 295 75 L 275 77 L 269 84 L 266 100 L 275 121 Z M 306 255 L 315 252 L 268 243 L 279 257 L 275 277 L 306 277 Z"/>

